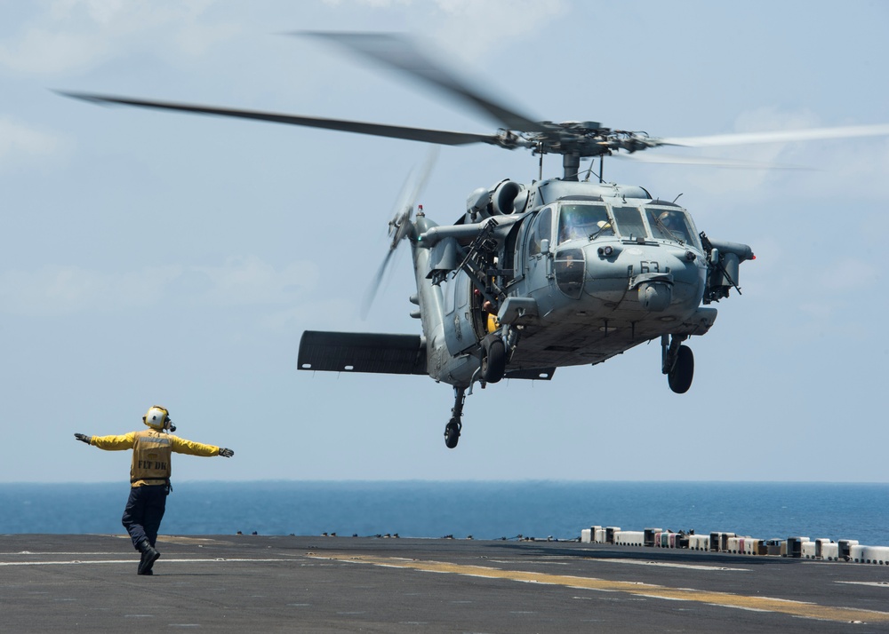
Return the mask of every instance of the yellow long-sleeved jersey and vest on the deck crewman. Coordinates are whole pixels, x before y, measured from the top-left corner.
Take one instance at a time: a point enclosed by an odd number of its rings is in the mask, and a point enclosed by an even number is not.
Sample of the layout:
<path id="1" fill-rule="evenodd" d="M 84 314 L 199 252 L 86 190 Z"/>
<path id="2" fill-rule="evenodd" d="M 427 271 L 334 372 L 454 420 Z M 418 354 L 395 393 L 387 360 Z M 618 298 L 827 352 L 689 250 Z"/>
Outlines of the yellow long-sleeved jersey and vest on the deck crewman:
<path id="1" fill-rule="evenodd" d="M 90 444 L 108 451 L 132 449 L 132 487 L 169 483 L 172 452 L 189 456 L 219 456 L 220 453 L 220 448 L 213 445 L 185 440 L 154 429 L 123 436 L 93 436 Z"/>

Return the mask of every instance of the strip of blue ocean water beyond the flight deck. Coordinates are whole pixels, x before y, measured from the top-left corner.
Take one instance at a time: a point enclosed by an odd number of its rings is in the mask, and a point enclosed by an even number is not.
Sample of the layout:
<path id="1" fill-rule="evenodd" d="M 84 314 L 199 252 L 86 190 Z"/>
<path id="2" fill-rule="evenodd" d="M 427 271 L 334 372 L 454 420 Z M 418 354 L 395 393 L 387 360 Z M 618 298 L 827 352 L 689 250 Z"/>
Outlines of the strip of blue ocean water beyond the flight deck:
<path id="1" fill-rule="evenodd" d="M 128 483 L 0 484 L 0 534 L 122 534 Z M 592 525 L 889 545 L 889 484 L 180 482 L 166 535 L 574 539 Z"/>

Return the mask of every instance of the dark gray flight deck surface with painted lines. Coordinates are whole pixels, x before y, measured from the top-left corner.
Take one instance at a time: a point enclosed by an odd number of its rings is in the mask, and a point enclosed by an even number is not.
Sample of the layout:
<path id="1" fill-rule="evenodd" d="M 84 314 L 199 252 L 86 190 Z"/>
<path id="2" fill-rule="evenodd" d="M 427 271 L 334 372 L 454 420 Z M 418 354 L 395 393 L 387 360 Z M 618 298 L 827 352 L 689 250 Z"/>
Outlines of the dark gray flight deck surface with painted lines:
<path id="1" fill-rule="evenodd" d="M 0 535 L 0 630 L 889 631 L 889 566 L 565 542 Z"/>

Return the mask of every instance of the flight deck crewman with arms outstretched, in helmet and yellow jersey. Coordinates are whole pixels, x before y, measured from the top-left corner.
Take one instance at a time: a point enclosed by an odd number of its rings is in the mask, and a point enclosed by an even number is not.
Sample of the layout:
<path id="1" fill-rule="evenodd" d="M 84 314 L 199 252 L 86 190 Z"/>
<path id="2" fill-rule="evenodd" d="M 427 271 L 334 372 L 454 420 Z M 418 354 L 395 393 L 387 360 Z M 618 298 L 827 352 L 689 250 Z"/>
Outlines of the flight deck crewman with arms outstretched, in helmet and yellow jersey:
<path id="1" fill-rule="evenodd" d="M 87 436 L 76 433 L 76 440 L 108 451 L 132 449 L 130 467 L 130 497 L 124 508 L 121 520 L 130 534 L 132 545 L 142 553 L 139 561 L 139 575 L 152 575 L 151 568 L 160 557 L 155 550 L 157 530 L 161 526 L 166 509 L 166 496 L 170 493 L 170 456 L 189 454 L 191 456 L 235 455 L 231 449 L 192 442 L 173 436 L 176 425 L 170 420 L 170 412 L 153 406 L 142 416 L 142 423 L 151 429 L 129 432 L 123 436 Z"/>

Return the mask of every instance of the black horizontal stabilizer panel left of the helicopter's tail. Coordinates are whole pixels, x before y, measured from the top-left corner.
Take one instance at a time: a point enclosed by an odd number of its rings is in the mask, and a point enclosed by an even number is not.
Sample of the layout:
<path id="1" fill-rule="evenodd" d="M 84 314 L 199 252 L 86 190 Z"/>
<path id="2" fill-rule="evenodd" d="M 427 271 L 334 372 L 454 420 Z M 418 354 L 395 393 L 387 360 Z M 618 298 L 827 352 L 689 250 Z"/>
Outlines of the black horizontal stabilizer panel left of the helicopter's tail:
<path id="1" fill-rule="evenodd" d="M 419 335 L 306 330 L 297 368 L 426 375 L 426 346 Z"/>

